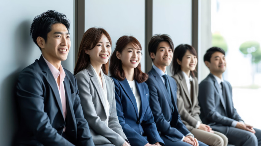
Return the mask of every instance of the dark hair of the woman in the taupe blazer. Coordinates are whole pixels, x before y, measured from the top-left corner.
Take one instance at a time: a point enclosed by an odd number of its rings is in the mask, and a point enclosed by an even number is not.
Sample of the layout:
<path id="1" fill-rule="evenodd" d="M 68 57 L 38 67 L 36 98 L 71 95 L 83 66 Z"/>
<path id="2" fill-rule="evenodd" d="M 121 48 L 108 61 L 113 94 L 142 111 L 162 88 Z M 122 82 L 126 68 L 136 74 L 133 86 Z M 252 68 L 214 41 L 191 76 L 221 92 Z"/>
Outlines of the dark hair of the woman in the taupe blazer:
<path id="1" fill-rule="evenodd" d="M 182 58 L 185 55 L 185 53 L 187 52 L 187 50 L 189 50 L 189 52 L 191 54 L 197 56 L 197 51 L 191 45 L 188 45 L 188 44 L 178 45 L 174 50 L 173 62 L 172 62 L 172 66 L 171 66 L 171 70 L 172 70 L 173 75 L 175 75 L 179 71 L 181 71 L 181 66 L 177 63 L 177 59 L 179 61 L 182 61 Z M 192 75 L 194 77 L 195 76 L 194 71 L 190 71 L 190 75 Z"/>

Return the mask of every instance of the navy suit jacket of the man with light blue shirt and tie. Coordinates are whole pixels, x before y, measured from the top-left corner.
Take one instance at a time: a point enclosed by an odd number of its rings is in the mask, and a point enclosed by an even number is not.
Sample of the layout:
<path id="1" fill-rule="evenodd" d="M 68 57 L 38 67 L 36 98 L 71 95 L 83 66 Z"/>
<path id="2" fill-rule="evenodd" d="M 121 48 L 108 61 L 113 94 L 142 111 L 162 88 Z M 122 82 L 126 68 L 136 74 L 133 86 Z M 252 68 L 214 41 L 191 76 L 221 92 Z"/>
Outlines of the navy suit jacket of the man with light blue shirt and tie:
<path id="1" fill-rule="evenodd" d="M 175 80 L 167 75 L 171 90 L 170 101 L 166 86 L 161 77 L 152 68 L 149 72 L 149 79 L 146 81 L 150 90 L 150 108 L 158 131 L 169 140 L 178 141 L 187 135 L 189 130 L 182 123 L 177 110 L 177 85 Z"/>

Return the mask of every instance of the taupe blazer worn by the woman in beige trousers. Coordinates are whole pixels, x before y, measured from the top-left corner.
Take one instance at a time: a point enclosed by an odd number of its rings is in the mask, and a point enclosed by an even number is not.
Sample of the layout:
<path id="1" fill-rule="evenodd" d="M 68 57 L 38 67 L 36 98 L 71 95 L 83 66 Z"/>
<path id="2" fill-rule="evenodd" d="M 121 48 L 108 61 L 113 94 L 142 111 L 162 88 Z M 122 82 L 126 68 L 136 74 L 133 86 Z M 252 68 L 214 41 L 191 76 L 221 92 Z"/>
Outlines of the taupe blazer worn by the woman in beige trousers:
<path id="1" fill-rule="evenodd" d="M 176 75 L 172 76 L 177 83 L 177 108 L 180 114 L 182 122 L 186 125 L 187 129 L 192 130 L 196 128 L 197 121 L 201 121 L 200 106 L 198 105 L 198 83 L 197 78 L 192 78 L 192 94 L 191 99 L 189 90 L 186 84 L 185 77 L 182 71 L 179 71 Z"/>

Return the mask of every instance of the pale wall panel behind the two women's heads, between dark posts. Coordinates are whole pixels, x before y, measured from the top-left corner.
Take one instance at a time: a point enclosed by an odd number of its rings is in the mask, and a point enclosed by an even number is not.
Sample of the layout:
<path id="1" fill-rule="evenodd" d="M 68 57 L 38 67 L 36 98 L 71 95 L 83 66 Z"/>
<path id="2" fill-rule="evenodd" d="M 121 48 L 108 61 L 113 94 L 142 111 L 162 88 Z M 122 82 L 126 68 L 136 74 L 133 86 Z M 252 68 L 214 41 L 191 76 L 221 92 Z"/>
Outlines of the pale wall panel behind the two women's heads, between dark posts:
<path id="1" fill-rule="evenodd" d="M 111 50 L 123 35 L 134 36 L 142 46 L 141 68 L 145 71 L 145 1 L 85 0 L 85 31 L 102 27 L 111 36 Z"/>

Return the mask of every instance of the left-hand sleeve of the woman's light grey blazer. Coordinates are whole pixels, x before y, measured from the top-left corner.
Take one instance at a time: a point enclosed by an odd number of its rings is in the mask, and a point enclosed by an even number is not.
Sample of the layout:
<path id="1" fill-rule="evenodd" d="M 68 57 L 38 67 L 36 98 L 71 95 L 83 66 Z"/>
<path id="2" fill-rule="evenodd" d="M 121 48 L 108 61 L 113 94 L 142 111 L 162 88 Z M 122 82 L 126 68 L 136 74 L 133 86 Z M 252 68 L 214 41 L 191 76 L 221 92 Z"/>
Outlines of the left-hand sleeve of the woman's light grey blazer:
<path id="1" fill-rule="evenodd" d="M 122 145 L 125 140 L 111 128 L 109 128 L 104 121 L 101 121 L 97 116 L 94 104 L 92 102 L 92 95 L 90 91 L 90 78 L 88 75 L 80 72 L 75 75 L 78 83 L 80 102 L 83 107 L 85 119 L 88 121 L 90 127 L 98 134 L 106 137 L 114 145 Z M 94 97 L 99 98 L 99 97 Z"/>

